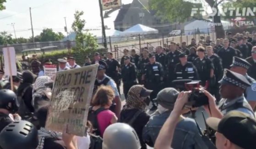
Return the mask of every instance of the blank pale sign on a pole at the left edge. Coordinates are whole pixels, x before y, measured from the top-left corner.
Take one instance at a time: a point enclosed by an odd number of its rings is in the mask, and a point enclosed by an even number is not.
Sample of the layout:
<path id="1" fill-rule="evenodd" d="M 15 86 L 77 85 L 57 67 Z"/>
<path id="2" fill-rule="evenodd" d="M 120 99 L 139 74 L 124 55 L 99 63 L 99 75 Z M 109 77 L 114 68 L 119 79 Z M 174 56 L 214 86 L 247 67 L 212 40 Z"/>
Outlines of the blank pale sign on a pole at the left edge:
<path id="1" fill-rule="evenodd" d="M 4 63 L 5 63 L 5 75 L 6 76 L 16 76 L 16 56 L 14 47 L 4 47 Z"/>

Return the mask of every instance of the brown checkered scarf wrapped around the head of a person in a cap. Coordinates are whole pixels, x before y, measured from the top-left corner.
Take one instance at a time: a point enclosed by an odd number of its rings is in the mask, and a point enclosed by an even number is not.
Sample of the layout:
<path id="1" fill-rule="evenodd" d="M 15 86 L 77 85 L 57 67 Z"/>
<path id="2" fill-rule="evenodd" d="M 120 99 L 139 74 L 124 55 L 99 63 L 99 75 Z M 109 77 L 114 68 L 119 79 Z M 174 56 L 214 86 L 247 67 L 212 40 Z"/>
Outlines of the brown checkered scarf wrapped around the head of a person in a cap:
<path id="1" fill-rule="evenodd" d="M 139 109 L 139 110 L 145 110 L 146 103 L 140 98 L 140 93 L 142 91 L 143 86 L 142 85 L 134 85 L 130 88 L 126 104 L 124 109 L 130 110 L 130 109 Z"/>

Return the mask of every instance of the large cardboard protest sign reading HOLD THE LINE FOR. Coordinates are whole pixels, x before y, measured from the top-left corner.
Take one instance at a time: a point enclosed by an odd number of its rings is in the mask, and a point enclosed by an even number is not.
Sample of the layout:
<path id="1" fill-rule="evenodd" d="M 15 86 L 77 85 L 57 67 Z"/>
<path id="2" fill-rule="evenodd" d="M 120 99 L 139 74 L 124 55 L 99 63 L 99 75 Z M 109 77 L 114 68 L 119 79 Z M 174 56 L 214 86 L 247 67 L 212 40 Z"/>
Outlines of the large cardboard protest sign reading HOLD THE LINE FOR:
<path id="1" fill-rule="evenodd" d="M 98 64 L 56 73 L 46 128 L 84 136 Z"/>

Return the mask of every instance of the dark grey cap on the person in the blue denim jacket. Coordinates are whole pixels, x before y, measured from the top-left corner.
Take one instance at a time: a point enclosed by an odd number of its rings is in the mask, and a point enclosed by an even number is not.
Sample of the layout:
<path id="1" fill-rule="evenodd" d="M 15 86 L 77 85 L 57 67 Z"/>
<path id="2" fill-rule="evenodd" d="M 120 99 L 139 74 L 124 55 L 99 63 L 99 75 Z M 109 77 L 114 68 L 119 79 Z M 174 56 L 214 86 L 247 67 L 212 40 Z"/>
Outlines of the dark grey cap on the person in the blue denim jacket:
<path id="1" fill-rule="evenodd" d="M 179 95 L 179 92 L 174 88 L 164 88 L 157 95 L 157 103 L 160 104 L 163 108 L 173 110 L 174 103 Z"/>

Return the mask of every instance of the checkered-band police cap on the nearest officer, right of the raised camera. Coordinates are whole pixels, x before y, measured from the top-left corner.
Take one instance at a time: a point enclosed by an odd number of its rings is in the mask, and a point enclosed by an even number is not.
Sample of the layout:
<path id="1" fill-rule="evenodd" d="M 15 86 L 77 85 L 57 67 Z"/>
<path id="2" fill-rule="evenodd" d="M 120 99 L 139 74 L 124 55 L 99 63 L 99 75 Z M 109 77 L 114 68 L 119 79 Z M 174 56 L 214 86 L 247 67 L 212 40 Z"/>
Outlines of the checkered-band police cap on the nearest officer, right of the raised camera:
<path id="1" fill-rule="evenodd" d="M 237 87 L 241 87 L 243 89 L 246 89 L 247 87 L 251 86 L 251 83 L 248 82 L 248 80 L 245 78 L 245 76 L 232 72 L 228 69 L 224 70 L 224 76 L 219 81 L 220 84 L 232 84 Z"/>

